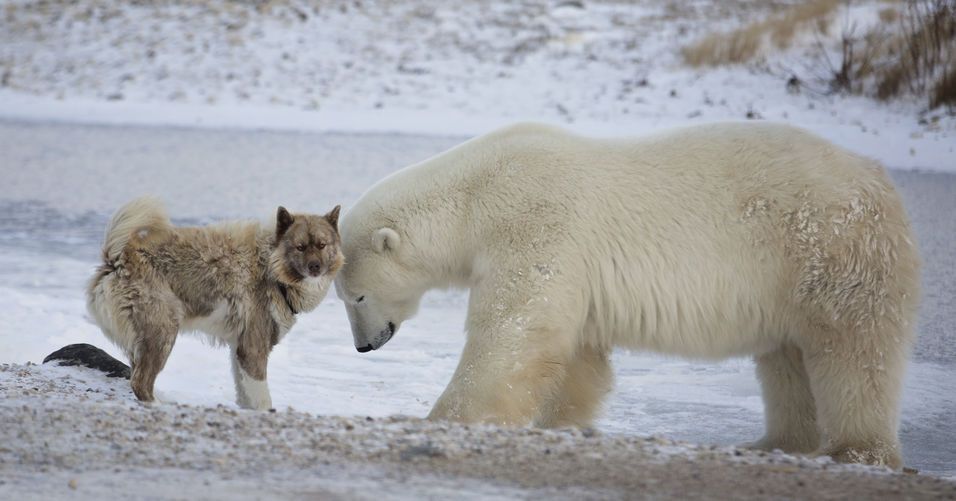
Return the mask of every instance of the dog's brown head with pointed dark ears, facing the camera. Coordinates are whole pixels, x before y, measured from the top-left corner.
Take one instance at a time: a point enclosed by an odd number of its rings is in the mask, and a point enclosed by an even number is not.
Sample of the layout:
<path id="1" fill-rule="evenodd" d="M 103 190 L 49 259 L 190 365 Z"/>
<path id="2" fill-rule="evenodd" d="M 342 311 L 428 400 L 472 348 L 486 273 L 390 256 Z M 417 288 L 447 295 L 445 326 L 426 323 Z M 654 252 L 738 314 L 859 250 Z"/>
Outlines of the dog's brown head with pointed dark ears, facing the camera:
<path id="1" fill-rule="evenodd" d="M 272 268 L 279 281 L 330 280 L 342 267 L 339 209 L 328 214 L 291 214 L 285 207 L 276 213 Z"/>

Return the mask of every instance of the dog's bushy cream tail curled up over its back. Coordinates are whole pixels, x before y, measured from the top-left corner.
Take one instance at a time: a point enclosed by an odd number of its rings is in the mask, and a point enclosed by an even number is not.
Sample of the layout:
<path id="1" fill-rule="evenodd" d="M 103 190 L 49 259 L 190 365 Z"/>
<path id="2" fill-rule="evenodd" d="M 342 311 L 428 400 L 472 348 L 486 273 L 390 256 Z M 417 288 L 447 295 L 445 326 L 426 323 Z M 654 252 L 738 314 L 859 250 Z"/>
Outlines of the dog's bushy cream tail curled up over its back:
<path id="1" fill-rule="evenodd" d="M 172 228 L 166 208 L 158 198 L 137 198 L 113 214 L 103 240 L 103 260 L 113 263 L 119 259 L 130 241 L 141 240 L 148 235 L 166 232 Z"/>

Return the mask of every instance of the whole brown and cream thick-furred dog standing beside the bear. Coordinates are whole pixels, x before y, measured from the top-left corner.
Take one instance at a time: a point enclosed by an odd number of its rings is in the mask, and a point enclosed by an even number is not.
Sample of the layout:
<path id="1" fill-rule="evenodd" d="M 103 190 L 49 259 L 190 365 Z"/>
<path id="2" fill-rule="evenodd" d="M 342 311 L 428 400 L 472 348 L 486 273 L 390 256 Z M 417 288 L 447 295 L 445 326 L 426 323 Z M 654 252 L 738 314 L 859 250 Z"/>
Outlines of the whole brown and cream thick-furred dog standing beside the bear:
<path id="1" fill-rule="evenodd" d="M 198 331 L 230 347 L 239 406 L 270 408 L 269 352 L 296 314 L 318 306 L 343 263 L 338 214 L 280 207 L 275 226 L 176 228 L 153 198 L 117 211 L 87 307 L 129 358 L 136 397 L 153 400 L 176 336 Z"/>

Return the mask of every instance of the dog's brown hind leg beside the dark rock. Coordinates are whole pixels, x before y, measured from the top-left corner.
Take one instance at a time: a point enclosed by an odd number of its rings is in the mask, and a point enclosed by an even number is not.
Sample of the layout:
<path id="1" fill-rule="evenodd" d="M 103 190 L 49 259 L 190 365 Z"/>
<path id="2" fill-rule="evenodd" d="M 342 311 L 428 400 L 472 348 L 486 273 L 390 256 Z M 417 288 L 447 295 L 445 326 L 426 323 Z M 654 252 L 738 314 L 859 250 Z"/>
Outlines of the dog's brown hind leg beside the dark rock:
<path id="1" fill-rule="evenodd" d="M 176 343 L 183 317 L 172 291 L 154 290 L 149 296 L 143 303 L 146 308 L 136 309 L 130 316 L 135 336 L 130 385 L 136 398 L 144 402 L 154 400 L 153 384 Z"/>

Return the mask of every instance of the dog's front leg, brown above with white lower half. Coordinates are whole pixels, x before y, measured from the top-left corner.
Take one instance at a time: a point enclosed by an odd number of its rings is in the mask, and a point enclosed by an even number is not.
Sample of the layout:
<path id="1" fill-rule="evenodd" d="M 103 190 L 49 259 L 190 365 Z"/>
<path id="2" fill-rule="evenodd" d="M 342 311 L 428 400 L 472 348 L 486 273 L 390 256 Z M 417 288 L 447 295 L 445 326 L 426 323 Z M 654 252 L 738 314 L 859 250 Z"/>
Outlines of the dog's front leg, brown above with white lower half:
<path id="1" fill-rule="evenodd" d="M 238 344 L 232 348 L 232 376 L 236 383 L 236 404 L 244 409 L 268 410 L 272 408 L 269 384 L 266 382 L 266 365 L 272 350 L 270 333 L 262 330 L 247 330 L 239 335 Z"/>

